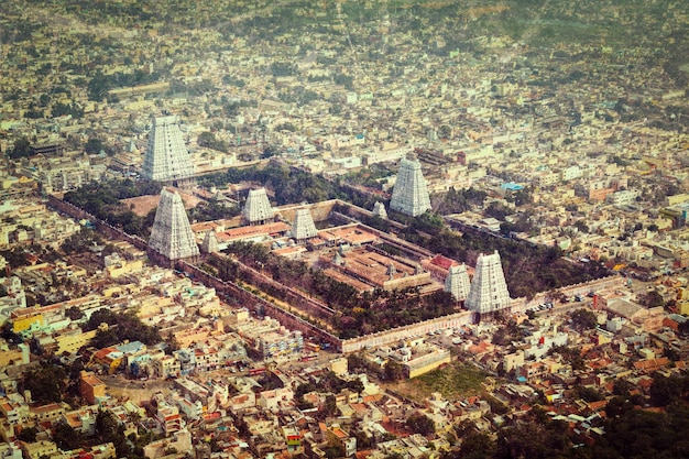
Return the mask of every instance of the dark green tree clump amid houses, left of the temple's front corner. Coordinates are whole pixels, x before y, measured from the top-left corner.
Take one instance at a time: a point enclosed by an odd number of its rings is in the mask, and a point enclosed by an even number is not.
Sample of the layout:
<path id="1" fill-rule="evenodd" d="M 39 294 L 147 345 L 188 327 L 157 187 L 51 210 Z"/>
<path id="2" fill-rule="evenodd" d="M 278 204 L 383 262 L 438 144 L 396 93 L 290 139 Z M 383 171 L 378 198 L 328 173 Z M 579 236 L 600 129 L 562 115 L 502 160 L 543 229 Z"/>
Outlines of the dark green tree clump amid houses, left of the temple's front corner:
<path id="1" fill-rule="evenodd" d="M 98 329 L 101 324 L 108 324 L 108 328 Z M 91 314 L 81 329 L 84 331 L 98 329 L 91 346 L 99 349 L 124 340 L 141 341 L 149 346 L 163 340 L 158 329 L 143 324 L 134 312 L 113 313 L 110 309 L 98 309 Z"/>

